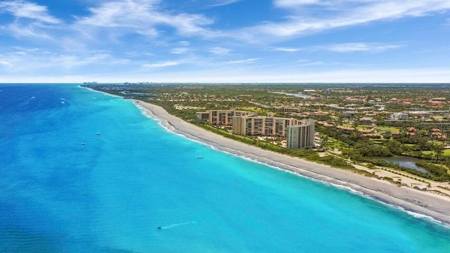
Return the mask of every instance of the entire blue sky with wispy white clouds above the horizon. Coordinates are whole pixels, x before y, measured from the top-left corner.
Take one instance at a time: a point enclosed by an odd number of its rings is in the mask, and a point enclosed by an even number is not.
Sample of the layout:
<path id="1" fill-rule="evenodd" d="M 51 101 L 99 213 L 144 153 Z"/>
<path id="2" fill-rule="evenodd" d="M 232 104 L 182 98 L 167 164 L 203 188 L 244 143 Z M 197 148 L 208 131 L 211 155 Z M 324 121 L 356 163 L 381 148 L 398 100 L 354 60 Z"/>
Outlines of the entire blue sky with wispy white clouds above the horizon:
<path id="1" fill-rule="evenodd" d="M 0 83 L 450 82 L 450 0 L 0 1 Z"/>

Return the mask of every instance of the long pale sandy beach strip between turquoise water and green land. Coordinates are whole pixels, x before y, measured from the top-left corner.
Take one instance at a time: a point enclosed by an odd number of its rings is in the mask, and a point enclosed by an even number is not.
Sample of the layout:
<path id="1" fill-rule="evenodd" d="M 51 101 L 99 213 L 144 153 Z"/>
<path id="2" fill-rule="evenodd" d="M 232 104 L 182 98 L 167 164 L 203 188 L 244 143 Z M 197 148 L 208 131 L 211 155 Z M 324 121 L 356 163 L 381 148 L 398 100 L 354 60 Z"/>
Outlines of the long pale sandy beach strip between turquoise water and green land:
<path id="1" fill-rule="evenodd" d="M 193 124 L 189 124 L 183 119 L 170 115 L 158 105 L 146 103 L 141 100 L 132 101 L 146 110 L 151 117 L 160 119 L 161 123 L 167 129 L 174 131 L 176 134 L 181 134 L 192 140 L 212 145 L 219 150 L 234 155 L 245 156 L 251 160 L 307 176 L 311 179 L 333 183 L 345 188 L 352 188 L 380 202 L 416 213 L 417 216 L 430 216 L 432 219 L 450 226 L 449 197 L 443 197 L 409 187 L 395 186 L 387 181 L 354 174 L 343 169 L 336 169 L 327 165 L 301 160 L 300 158 L 274 153 L 269 150 L 262 150 L 261 148 L 233 141 L 201 129 Z"/>

